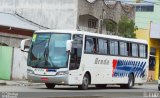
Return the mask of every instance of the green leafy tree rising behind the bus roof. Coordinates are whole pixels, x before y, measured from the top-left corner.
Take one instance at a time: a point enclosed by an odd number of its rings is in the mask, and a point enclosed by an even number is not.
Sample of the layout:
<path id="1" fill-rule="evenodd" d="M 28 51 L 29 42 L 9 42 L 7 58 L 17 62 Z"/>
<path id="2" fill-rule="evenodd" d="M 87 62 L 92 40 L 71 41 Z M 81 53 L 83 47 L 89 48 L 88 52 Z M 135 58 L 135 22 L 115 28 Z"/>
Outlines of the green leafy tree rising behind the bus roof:
<path id="1" fill-rule="evenodd" d="M 135 26 L 133 20 L 128 19 L 128 17 L 123 16 L 118 23 L 118 33 L 120 36 L 127 37 L 127 38 L 135 38 L 136 31 L 138 28 Z"/>

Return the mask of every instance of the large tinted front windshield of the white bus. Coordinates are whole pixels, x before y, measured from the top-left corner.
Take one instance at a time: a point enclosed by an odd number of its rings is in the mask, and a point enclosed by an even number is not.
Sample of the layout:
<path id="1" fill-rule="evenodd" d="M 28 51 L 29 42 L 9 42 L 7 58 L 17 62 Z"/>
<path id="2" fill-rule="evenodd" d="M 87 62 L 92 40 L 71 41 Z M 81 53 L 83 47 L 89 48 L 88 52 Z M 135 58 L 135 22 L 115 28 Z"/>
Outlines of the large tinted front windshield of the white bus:
<path id="1" fill-rule="evenodd" d="M 67 68 L 66 41 L 70 39 L 70 34 L 34 34 L 27 65 L 36 68 Z"/>

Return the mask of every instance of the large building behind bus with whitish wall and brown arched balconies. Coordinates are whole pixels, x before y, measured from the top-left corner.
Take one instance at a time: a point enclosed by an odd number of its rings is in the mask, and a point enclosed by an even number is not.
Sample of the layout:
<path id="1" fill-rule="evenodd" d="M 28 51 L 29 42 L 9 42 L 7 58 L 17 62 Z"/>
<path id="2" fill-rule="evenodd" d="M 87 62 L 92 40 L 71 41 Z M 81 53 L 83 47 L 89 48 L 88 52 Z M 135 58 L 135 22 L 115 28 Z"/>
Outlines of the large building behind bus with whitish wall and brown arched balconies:
<path id="1" fill-rule="evenodd" d="M 117 24 L 121 16 L 134 19 L 135 14 L 133 6 L 108 0 L 1 0 L 0 6 L 0 11 L 16 12 L 51 29 L 100 33 L 107 33 L 105 21 Z"/>

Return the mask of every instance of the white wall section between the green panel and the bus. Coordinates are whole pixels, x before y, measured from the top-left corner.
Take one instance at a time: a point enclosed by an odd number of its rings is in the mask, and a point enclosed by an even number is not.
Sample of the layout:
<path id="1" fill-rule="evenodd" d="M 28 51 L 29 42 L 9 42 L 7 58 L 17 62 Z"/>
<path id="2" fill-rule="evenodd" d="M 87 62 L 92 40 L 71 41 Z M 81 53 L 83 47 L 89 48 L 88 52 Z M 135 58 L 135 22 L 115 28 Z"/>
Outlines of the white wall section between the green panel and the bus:
<path id="1" fill-rule="evenodd" d="M 27 52 L 22 52 L 19 48 L 14 48 L 12 79 L 27 79 Z"/>

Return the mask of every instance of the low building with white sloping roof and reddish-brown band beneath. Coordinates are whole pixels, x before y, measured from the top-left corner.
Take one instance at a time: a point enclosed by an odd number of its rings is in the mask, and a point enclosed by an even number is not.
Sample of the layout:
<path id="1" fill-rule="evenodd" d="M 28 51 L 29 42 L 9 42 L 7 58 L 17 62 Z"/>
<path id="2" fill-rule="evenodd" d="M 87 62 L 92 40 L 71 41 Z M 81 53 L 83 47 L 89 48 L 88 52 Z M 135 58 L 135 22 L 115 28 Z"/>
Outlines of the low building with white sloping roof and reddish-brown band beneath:
<path id="1" fill-rule="evenodd" d="M 19 47 L 22 39 L 31 38 L 33 32 L 39 29 L 46 29 L 46 27 L 16 14 L 0 12 L 0 45 Z"/>

